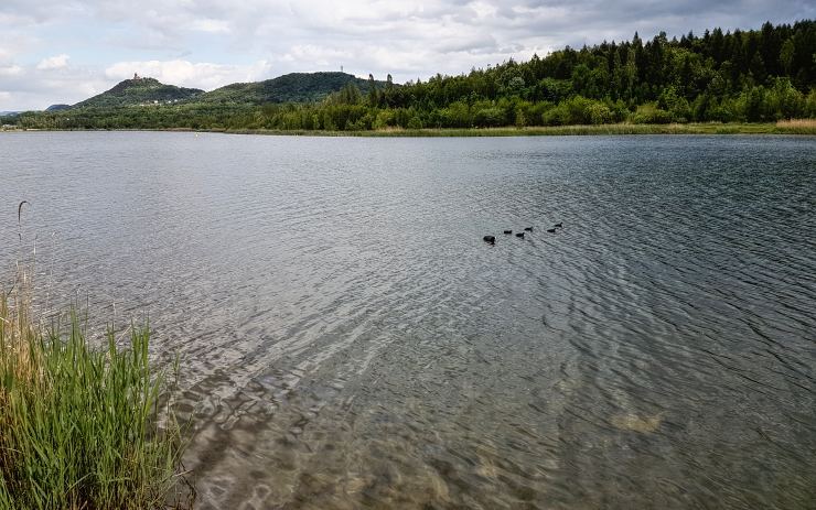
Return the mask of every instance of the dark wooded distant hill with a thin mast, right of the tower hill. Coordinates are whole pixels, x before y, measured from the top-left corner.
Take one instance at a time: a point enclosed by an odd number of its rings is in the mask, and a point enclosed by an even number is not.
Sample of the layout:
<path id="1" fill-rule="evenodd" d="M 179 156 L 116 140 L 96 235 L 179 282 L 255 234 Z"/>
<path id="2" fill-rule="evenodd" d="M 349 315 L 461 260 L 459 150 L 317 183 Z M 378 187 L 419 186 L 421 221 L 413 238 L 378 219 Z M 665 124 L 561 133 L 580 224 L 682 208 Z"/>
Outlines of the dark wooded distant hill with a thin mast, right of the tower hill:
<path id="1" fill-rule="evenodd" d="M 385 82 L 375 83 L 377 87 L 385 86 Z M 368 91 L 367 79 L 346 73 L 290 73 L 265 82 L 227 85 L 203 94 L 196 98 L 196 102 L 249 105 L 315 102 L 348 84 L 356 85 L 363 94 Z"/>

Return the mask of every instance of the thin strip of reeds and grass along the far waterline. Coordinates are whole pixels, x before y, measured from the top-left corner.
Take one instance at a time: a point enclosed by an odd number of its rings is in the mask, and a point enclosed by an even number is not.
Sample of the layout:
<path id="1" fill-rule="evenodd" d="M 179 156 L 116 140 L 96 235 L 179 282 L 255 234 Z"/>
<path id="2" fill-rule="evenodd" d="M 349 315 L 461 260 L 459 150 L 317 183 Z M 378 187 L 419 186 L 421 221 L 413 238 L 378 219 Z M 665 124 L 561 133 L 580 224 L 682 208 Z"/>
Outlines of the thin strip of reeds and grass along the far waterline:
<path id="1" fill-rule="evenodd" d="M 40 129 L 6 129 L 0 132 L 22 131 L 67 131 Z M 71 130 L 83 131 L 83 130 Z M 88 131 L 181 131 L 216 132 L 228 134 L 269 134 L 301 137 L 562 137 L 562 135 L 610 135 L 610 134 L 805 134 L 816 135 L 816 119 L 790 120 L 779 122 L 705 122 L 705 123 L 668 123 L 668 124 L 598 124 L 598 126 L 535 126 L 525 128 L 426 128 L 402 129 L 388 128 L 364 131 L 324 131 L 324 130 L 267 130 L 267 129 L 114 129 Z"/>

